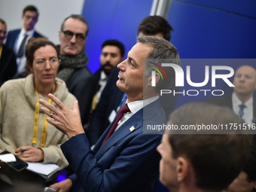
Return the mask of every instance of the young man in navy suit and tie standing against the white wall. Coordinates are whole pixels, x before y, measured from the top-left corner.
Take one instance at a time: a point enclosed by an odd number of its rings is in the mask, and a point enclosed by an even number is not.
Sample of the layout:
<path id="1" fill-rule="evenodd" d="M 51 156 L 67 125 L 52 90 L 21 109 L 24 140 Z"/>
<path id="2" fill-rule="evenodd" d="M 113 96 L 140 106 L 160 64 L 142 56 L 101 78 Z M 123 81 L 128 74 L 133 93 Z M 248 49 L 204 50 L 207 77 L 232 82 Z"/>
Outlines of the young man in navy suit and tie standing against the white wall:
<path id="1" fill-rule="evenodd" d="M 29 38 L 43 38 L 43 35 L 35 31 L 35 24 L 38 22 L 38 10 L 33 5 L 23 9 L 23 28 L 8 32 L 5 45 L 14 50 L 17 56 L 17 72 L 26 72 L 26 58 L 24 48 Z"/>

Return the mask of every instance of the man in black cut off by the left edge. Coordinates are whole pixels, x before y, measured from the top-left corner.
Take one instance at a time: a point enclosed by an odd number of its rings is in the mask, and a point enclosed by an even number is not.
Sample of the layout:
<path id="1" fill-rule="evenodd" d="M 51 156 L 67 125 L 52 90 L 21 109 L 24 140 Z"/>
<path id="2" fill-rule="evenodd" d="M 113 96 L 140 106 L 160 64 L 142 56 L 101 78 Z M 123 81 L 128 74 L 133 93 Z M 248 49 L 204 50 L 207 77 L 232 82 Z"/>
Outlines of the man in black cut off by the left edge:
<path id="1" fill-rule="evenodd" d="M 0 19 L 0 87 L 17 72 L 14 51 L 3 44 L 3 41 L 6 38 L 6 31 L 6 23 L 4 20 Z"/>

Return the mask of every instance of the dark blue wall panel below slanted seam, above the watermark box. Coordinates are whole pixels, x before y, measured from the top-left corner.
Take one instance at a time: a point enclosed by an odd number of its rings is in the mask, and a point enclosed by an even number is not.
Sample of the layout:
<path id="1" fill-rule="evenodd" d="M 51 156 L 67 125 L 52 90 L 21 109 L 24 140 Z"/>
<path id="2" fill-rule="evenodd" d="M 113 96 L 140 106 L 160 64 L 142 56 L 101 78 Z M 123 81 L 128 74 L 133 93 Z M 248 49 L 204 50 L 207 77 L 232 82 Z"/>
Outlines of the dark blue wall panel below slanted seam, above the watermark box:
<path id="1" fill-rule="evenodd" d="M 256 58 L 256 20 L 181 2 L 168 20 L 182 58 Z"/>

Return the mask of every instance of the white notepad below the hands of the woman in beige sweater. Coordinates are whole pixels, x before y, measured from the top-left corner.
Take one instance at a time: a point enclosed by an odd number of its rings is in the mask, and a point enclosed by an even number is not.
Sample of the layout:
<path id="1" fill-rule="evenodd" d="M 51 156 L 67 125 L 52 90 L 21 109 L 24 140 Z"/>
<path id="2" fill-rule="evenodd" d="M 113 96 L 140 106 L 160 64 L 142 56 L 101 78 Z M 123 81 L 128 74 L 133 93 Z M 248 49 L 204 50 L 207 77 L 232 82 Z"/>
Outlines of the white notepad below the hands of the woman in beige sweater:
<path id="1" fill-rule="evenodd" d="M 29 166 L 26 168 L 27 170 L 35 172 L 45 179 L 50 178 L 54 173 L 56 173 L 59 170 L 59 166 L 53 163 L 27 163 L 29 164 Z"/>

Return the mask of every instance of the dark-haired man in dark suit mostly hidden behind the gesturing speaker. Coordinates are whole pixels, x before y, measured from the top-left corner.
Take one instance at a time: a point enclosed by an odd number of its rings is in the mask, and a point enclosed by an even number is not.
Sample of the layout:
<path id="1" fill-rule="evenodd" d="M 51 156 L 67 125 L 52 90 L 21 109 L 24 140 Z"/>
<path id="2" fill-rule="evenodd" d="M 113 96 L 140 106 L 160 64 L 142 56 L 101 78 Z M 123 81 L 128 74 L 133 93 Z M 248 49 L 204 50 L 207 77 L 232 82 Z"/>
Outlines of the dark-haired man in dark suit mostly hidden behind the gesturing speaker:
<path id="1" fill-rule="evenodd" d="M 171 38 L 172 26 L 160 16 L 154 15 L 145 17 L 138 26 L 138 35 L 151 35 L 157 36 L 160 38 L 164 38 L 167 41 Z M 110 77 L 108 78 L 108 83 L 105 89 L 102 91 L 102 96 L 99 99 L 99 104 L 96 106 L 96 109 L 93 111 L 92 118 L 90 120 L 90 129 L 88 135 L 88 139 L 90 140 L 90 144 L 94 145 L 108 125 L 112 122 L 114 118 L 114 114 L 119 108 L 120 103 L 123 99 L 126 98 L 126 95 L 118 89 L 116 86 L 117 75 L 119 69 L 115 68 L 113 72 L 111 72 Z M 177 92 L 178 87 L 174 87 L 171 85 L 169 90 L 173 90 Z M 172 96 L 172 94 L 165 94 L 165 96 L 161 97 L 161 100 L 164 102 L 172 102 L 172 105 L 162 105 L 162 107 L 166 111 L 166 116 L 169 116 L 169 113 L 175 109 L 176 101 L 178 99 L 178 95 Z M 100 130 L 99 130 L 100 129 Z"/>

